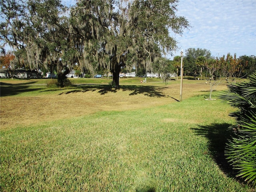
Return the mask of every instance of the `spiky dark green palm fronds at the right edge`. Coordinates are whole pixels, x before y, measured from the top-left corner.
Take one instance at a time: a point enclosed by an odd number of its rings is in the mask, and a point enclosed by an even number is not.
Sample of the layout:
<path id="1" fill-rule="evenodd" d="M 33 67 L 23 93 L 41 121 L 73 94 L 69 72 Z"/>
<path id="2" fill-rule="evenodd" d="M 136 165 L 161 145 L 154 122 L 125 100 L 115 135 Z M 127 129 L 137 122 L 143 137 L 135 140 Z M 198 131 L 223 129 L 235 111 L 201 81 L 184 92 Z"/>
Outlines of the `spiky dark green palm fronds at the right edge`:
<path id="1" fill-rule="evenodd" d="M 228 141 L 226 156 L 238 177 L 256 185 L 256 73 L 248 81 L 232 84 L 220 98 L 237 107 L 232 113 L 236 125 L 232 126 L 232 139 Z"/>

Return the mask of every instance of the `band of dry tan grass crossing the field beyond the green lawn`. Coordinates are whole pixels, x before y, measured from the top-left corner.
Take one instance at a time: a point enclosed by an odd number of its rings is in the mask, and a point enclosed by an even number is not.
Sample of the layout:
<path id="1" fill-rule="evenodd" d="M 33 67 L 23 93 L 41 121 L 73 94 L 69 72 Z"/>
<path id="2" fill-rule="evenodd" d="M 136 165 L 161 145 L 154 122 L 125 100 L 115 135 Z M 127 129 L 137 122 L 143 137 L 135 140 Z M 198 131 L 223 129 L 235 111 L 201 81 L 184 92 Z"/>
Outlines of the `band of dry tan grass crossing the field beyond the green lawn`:
<path id="1" fill-rule="evenodd" d="M 223 90 L 226 84 L 217 88 Z M 182 99 L 197 94 L 208 94 L 208 90 L 209 86 L 203 81 L 191 83 L 184 80 Z M 169 104 L 179 100 L 180 84 L 170 82 L 167 86 L 122 85 L 120 90 L 110 90 L 106 85 L 84 85 L 74 89 L 47 90 L 47 94 L 43 94 L 44 92 L 46 91 L 40 91 L 36 96 L 1 96 L 1 128 L 28 126 L 98 111 L 134 110 Z"/>

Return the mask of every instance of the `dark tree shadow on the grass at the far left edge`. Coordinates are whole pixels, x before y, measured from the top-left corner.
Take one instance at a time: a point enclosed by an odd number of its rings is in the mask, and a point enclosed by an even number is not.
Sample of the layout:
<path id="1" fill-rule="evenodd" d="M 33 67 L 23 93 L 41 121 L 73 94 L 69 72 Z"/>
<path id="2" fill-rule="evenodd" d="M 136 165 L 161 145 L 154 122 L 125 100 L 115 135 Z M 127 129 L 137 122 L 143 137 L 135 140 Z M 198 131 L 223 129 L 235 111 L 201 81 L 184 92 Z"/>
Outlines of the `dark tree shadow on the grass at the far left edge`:
<path id="1" fill-rule="evenodd" d="M 33 84 L 35 82 L 27 82 L 27 83 L 18 83 L 18 84 L 9 84 L 0 82 L 0 96 L 14 96 L 23 92 L 31 92 L 40 90 L 40 88 L 30 88 L 29 84 Z"/>

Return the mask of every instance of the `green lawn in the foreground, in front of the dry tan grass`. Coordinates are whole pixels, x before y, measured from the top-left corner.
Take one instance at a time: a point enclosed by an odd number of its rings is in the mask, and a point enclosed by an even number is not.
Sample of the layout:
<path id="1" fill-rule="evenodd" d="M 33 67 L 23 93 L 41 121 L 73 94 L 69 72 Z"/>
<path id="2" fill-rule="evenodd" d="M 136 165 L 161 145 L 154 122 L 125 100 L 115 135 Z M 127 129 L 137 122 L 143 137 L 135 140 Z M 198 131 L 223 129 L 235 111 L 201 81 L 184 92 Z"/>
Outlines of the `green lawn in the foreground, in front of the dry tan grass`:
<path id="1" fill-rule="evenodd" d="M 199 95 L 0 130 L 0 191 L 255 191 L 224 159 L 232 111 Z"/>

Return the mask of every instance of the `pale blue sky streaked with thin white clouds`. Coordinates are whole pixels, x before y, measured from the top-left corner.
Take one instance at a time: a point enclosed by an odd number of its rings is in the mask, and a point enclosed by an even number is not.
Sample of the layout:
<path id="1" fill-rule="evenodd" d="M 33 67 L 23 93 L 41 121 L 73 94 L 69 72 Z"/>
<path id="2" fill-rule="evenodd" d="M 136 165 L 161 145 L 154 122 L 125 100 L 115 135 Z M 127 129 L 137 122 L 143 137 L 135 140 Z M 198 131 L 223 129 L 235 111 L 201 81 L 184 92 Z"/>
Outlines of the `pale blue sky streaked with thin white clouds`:
<path id="1" fill-rule="evenodd" d="M 75 0 L 62 0 L 72 5 Z M 185 16 L 192 28 L 175 35 L 179 51 L 188 48 L 210 50 L 212 56 L 256 56 L 256 0 L 180 0 L 178 16 Z M 167 58 L 173 57 L 167 55 Z"/>

